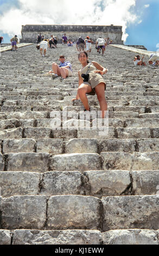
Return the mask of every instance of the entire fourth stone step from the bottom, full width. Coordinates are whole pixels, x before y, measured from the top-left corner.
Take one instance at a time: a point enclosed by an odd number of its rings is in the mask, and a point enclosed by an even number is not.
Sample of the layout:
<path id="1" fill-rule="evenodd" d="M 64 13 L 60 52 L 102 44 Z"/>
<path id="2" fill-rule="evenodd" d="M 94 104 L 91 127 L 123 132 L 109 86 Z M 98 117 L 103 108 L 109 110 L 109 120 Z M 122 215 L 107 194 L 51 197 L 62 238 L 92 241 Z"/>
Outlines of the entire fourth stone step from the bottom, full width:
<path id="1" fill-rule="evenodd" d="M 101 152 L 50 155 L 49 153 L 1 154 L 1 171 L 47 172 L 49 170 L 157 170 L 158 152 Z M 101 159 L 100 159 L 101 157 Z M 5 160 L 5 164 L 4 164 Z M 82 162 L 82 164 L 81 164 Z"/>

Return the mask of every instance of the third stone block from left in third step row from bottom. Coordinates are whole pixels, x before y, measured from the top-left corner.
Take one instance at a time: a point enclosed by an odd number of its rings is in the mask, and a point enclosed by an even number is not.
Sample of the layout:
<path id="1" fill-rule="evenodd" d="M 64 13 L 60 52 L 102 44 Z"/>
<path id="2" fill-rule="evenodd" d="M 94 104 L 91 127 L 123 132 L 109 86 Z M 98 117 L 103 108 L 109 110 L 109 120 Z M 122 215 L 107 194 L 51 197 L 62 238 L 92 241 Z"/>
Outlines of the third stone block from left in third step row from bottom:
<path id="1" fill-rule="evenodd" d="M 130 185 L 130 174 L 126 170 L 90 170 L 84 172 L 90 183 L 91 196 L 120 196 Z"/>

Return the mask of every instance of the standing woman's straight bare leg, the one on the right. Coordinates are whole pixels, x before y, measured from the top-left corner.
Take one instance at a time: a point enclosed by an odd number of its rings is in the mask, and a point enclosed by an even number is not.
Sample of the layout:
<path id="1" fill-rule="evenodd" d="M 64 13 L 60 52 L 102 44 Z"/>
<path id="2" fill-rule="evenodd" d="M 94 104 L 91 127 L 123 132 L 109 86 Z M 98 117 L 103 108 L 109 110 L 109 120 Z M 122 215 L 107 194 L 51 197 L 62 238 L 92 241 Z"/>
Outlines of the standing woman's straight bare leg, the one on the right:
<path id="1" fill-rule="evenodd" d="M 105 99 L 105 84 L 99 83 L 98 86 L 95 87 L 95 90 L 100 104 L 101 118 L 105 118 L 104 111 L 107 111 L 107 102 Z"/>

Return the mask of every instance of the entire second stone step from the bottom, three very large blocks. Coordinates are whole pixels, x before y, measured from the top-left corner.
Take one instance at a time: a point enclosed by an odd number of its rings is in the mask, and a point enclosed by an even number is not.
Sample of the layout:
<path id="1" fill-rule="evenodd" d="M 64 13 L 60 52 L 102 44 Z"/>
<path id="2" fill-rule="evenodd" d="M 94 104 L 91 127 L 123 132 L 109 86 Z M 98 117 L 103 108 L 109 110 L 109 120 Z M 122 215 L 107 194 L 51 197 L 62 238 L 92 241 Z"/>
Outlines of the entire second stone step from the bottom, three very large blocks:
<path id="1" fill-rule="evenodd" d="M 2 229 L 158 229 L 158 195 L 101 200 L 80 195 L 52 196 L 48 201 L 46 196 L 0 199 Z"/>

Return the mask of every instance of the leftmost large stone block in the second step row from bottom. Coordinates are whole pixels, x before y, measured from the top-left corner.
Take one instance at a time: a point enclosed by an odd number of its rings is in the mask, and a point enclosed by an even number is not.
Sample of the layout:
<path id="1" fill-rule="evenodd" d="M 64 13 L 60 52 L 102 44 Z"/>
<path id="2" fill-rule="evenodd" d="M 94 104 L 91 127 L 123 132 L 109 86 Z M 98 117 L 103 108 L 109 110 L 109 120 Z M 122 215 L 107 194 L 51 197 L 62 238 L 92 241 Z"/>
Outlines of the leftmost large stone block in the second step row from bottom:
<path id="1" fill-rule="evenodd" d="M 2 199 L 3 229 L 43 229 L 46 196 L 14 196 Z"/>

